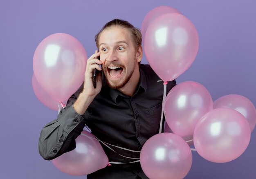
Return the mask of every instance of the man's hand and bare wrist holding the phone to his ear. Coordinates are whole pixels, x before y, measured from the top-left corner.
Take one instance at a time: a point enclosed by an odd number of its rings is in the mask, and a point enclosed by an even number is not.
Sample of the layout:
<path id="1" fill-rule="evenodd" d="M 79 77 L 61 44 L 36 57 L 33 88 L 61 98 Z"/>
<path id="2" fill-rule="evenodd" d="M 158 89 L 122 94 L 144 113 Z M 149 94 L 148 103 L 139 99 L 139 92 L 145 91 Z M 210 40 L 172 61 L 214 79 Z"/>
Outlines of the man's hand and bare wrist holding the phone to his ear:
<path id="1" fill-rule="evenodd" d="M 74 103 L 73 107 L 74 110 L 82 115 L 87 110 L 90 103 L 93 101 L 95 96 L 99 94 L 102 87 L 102 81 L 101 81 L 101 72 L 96 77 L 96 88 L 93 87 L 92 83 L 92 76 L 95 69 L 98 69 L 101 71 L 101 67 L 99 65 L 102 64 L 102 62 L 97 59 L 97 57 L 100 55 L 100 53 L 96 50 L 90 58 L 87 60 L 86 70 L 85 70 L 85 79 L 83 84 L 83 92 L 79 94 L 79 97 L 77 98 L 76 102 Z"/>

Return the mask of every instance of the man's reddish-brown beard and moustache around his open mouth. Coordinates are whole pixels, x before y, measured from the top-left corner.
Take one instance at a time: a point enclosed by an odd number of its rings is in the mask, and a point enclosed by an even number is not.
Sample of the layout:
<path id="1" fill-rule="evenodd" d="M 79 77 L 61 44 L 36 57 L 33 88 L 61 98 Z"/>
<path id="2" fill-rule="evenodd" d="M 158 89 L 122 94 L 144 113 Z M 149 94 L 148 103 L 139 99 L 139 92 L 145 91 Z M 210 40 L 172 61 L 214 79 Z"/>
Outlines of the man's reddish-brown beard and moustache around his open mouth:
<path id="1" fill-rule="evenodd" d="M 124 79 L 122 79 L 121 81 L 119 79 L 117 80 L 111 80 L 109 78 L 109 74 L 108 74 L 108 63 L 105 65 L 104 67 L 104 70 L 103 70 L 103 73 L 105 75 L 105 81 L 106 83 L 108 84 L 108 86 L 110 88 L 113 88 L 113 89 L 120 89 L 122 87 L 124 87 L 128 81 L 130 80 L 134 70 L 135 70 L 135 66 L 136 66 L 136 62 L 135 62 L 136 59 L 133 60 L 133 66 L 132 66 L 132 69 L 130 70 L 130 72 L 127 73 L 127 69 L 124 65 L 122 64 L 119 64 L 119 63 L 111 63 L 112 65 L 115 65 L 115 66 L 118 66 L 118 67 L 121 67 L 123 69 L 123 72 L 126 72 L 127 74 L 121 74 L 121 75 L 125 75 L 124 76 Z"/>

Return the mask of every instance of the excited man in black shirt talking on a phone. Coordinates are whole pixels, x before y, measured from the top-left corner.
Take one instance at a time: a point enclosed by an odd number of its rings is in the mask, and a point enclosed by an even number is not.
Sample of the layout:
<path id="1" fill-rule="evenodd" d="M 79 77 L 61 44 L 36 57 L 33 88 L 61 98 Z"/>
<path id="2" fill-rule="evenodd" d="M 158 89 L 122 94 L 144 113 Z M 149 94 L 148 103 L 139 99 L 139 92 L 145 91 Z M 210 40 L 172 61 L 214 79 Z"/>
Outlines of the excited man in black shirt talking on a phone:
<path id="1" fill-rule="evenodd" d="M 39 139 L 40 155 L 47 160 L 75 148 L 75 139 L 85 124 L 101 141 L 112 145 L 141 150 L 143 144 L 159 131 L 163 85 L 149 65 L 140 65 L 141 33 L 129 22 L 114 19 L 95 36 L 98 51 L 87 60 L 83 85 L 69 98 L 58 118 L 43 128 Z M 97 57 L 100 56 L 100 60 Z M 101 65 L 101 67 L 99 66 Z M 103 71 L 94 88 L 95 69 Z M 175 86 L 167 85 L 167 92 Z M 146 179 L 139 152 L 130 152 L 103 145 L 109 161 L 123 162 L 98 170 L 88 178 Z"/>

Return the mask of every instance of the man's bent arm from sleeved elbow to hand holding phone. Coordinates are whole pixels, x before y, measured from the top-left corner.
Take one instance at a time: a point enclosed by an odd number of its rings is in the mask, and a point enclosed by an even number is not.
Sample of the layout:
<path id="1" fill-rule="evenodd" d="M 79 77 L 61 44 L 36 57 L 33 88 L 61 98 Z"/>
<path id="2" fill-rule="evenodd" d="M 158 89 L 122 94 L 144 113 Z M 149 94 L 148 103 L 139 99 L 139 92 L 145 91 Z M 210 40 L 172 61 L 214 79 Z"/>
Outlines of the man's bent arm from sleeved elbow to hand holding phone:
<path id="1" fill-rule="evenodd" d="M 101 90 L 101 76 L 97 77 L 97 87 L 92 84 L 92 72 L 101 63 L 97 59 L 99 53 L 95 51 L 88 60 L 85 70 L 85 80 L 81 87 L 69 98 L 67 107 L 62 109 L 58 118 L 45 125 L 40 133 L 38 149 L 40 155 L 51 160 L 76 147 L 76 137 L 81 134 L 85 126 L 85 111 Z"/>

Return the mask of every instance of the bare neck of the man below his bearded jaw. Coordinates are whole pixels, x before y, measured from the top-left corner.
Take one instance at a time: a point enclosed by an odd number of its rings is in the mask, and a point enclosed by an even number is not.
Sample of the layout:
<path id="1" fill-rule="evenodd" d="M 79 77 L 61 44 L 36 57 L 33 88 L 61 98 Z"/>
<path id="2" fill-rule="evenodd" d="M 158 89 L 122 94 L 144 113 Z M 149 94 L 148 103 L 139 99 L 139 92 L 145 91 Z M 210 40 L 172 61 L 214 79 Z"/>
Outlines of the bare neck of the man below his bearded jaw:
<path id="1" fill-rule="evenodd" d="M 133 96 L 137 89 L 138 83 L 139 83 L 139 67 L 136 66 L 128 83 L 126 83 L 124 87 L 119 88 L 118 90 L 125 95 Z"/>

